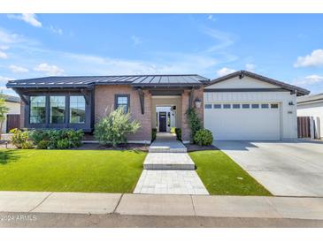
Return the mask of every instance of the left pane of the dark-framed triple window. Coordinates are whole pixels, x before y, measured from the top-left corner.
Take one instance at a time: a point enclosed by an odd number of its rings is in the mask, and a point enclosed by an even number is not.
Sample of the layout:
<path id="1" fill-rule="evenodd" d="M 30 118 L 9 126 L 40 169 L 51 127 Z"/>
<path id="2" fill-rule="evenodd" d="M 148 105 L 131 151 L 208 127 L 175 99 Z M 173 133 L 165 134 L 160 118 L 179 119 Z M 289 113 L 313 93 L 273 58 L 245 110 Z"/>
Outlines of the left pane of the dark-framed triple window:
<path id="1" fill-rule="evenodd" d="M 45 124 L 46 96 L 30 96 L 30 124 Z"/>

